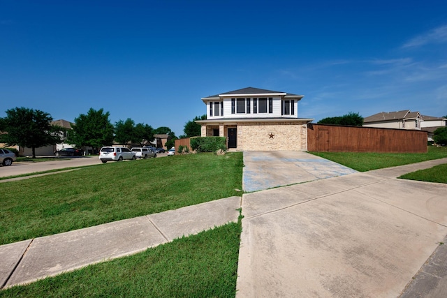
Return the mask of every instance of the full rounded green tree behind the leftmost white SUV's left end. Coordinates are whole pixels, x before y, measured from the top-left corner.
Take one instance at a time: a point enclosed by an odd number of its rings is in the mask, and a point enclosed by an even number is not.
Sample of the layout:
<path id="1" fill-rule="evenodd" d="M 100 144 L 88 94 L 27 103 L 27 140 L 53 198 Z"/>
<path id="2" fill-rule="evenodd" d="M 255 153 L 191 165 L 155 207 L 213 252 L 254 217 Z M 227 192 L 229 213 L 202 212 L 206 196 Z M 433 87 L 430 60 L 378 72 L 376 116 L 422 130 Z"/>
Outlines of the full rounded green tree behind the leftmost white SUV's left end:
<path id="1" fill-rule="evenodd" d="M 113 143 L 113 125 L 109 120 L 109 112 L 103 109 L 90 108 L 87 114 L 75 118 L 73 131 L 68 135 L 68 142 L 76 146 L 87 146 L 99 149 Z"/>

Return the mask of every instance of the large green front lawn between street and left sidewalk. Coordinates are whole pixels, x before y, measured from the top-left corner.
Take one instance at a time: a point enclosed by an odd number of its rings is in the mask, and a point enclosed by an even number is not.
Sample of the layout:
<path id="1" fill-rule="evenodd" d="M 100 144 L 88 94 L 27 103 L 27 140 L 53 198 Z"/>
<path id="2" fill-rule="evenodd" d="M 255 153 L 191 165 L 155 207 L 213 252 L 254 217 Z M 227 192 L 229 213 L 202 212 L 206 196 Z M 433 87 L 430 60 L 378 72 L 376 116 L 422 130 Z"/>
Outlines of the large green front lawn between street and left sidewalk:
<path id="1" fill-rule="evenodd" d="M 0 245 L 242 195 L 242 153 L 106 163 L 0 184 Z"/>

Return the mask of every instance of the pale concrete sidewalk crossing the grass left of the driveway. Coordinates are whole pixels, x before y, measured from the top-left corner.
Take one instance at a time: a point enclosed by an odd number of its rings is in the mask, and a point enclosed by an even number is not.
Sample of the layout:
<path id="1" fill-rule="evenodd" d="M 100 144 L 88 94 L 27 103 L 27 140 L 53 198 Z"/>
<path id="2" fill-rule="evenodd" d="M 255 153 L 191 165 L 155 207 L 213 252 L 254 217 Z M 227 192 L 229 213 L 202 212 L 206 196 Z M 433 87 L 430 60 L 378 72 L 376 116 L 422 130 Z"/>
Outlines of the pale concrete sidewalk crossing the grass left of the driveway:
<path id="1" fill-rule="evenodd" d="M 230 197 L 0 246 L 0 286 L 30 283 L 237 222 L 240 199 Z"/>

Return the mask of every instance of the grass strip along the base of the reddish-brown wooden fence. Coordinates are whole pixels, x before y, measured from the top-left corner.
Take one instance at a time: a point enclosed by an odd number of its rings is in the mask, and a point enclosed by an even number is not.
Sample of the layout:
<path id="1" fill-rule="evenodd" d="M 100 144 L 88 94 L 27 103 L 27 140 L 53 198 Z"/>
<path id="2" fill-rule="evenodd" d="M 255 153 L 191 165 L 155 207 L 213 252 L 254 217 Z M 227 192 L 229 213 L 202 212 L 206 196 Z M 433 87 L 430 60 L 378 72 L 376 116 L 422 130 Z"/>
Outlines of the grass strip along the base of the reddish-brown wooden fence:
<path id="1" fill-rule="evenodd" d="M 427 153 L 310 152 L 359 172 L 447 157 L 447 147 L 429 146 Z"/>

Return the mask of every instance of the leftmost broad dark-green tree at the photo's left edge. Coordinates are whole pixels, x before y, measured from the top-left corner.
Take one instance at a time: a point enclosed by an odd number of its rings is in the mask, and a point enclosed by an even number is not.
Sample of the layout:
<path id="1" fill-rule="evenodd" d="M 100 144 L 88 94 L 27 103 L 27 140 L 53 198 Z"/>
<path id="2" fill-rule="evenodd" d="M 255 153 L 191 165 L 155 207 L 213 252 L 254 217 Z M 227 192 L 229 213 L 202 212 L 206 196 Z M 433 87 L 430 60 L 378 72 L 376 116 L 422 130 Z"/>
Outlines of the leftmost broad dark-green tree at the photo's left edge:
<path id="1" fill-rule="evenodd" d="M 36 158 L 36 148 L 61 142 L 59 126 L 52 126 L 50 114 L 27 107 L 6 110 L 6 117 L 0 119 L 0 142 L 7 146 L 15 144 L 32 149 Z"/>

